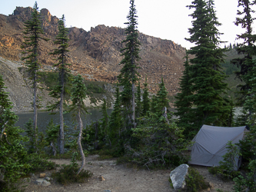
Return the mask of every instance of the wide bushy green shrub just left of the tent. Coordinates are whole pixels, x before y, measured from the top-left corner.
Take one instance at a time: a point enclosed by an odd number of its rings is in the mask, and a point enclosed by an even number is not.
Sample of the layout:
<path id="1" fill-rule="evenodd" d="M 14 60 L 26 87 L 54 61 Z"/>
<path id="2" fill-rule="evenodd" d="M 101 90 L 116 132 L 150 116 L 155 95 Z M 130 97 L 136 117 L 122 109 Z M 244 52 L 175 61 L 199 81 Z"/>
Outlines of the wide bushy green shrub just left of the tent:
<path id="1" fill-rule="evenodd" d="M 185 156 L 186 141 L 182 130 L 175 123 L 169 123 L 163 116 L 149 113 L 142 117 L 138 126 L 132 129 L 135 145 L 127 146 L 133 161 L 149 168 L 173 167 L 188 162 Z"/>

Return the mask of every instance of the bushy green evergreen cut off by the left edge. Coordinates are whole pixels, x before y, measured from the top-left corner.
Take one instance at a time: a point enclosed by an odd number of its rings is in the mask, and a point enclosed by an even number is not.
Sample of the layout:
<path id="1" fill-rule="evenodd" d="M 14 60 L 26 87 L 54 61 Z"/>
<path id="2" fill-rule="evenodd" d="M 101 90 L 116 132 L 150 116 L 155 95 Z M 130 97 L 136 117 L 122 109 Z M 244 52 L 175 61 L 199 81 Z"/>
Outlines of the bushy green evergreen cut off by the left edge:
<path id="1" fill-rule="evenodd" d="M 18 116 L 12 112 L 12 103 L 5 92 L 5 83 L 0 75 L 0 190 L 14 191 L 15 182 L 28 168 L 25 158 L 27 152 L 22 143 L 22 130 L 15 127 Z"/>

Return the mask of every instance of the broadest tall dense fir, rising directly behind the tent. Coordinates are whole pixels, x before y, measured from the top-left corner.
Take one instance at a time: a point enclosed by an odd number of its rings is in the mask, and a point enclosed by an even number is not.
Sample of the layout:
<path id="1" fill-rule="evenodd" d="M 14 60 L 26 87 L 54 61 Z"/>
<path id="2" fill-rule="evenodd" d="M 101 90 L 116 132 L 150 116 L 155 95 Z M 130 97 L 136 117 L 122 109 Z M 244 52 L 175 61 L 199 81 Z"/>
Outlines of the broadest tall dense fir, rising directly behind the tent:
<path id="1" fill-rule="evenodd" d="M 188 50 L 194 55 L 191 62 L 191 131 L 195 134 L 203 124 L 222 125 L 222 116 L 229 114 L 231 107 L 223 98 L 228 84 L 224 83 L 225 75 L 221 71 L 224 49 L 219 48 L 218 22 L 214 12 L 213 0 L 194 0 L 188 8 L 194 8 L 191 17 L 192 28 L 190 38 L 186 38 L 195 46 Z"/>

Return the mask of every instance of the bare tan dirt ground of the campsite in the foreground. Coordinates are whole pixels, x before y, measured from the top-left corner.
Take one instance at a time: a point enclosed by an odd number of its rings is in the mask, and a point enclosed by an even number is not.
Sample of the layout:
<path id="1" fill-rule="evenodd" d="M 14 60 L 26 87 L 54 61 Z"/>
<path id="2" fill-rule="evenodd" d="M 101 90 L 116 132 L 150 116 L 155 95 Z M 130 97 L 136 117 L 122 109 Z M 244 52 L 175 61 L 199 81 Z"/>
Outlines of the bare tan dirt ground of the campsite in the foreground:
<path id="1" fill-rule="evenodd" d="M 57 164 L 69 164 L 70 160 L 59 159 L 51 160 Z M 209 174 L 207 167 L 193 166 L 198 169 L 199 173 L 203 175 L 205 180 L 208 180 L 213 185 L 204 191 L 231 191 L 234 182 L 223 182 Z M 91 170 L 93 176 L 88 182 L 83 184 L 70 184 L 63 186 L 51 181 L 48 187 L 42 187 L 35 184 L 39 173 L 35 177 L 31 177 L 28 186 L 25 187 L 25 192 L 64 192 L 64 191 L 91 191 L 91 192 L 130 192 L 130 191 L 175 191 L 170 187 L 168 178 L 171 170 L 137 170 L 135 168 L 127 167 L 124 164 L 115 164 L 113 160 L 98 161 L 98 155 L 91 155 L 86 158 L 86 170 Z M 46 171 L 45 174 L 51 177 L 52 171 Z M 102 176 L 105 180 L 100 180 L 98 177 Z"/>

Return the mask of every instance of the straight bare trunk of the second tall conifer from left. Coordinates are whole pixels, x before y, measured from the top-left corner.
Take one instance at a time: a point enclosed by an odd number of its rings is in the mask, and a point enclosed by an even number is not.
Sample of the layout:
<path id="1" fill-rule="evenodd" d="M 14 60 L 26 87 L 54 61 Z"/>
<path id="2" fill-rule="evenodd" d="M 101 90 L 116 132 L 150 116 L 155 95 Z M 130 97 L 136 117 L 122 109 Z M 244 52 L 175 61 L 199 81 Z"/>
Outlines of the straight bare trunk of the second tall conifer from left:
<path id="1" fill-rule="evenodd" d="M 61 83 L 62 83 L 62 91 L 61 91 L 61 101 L 59 104 L 59 115 L 60 115 L 60 127 L 59 127 L 59 154 L 64 154 L 64 120 L 63 120 L 63 102 L 64 102 L 64 69 L 62 68 L 61 73 Z"/>

